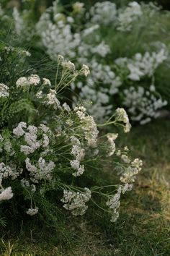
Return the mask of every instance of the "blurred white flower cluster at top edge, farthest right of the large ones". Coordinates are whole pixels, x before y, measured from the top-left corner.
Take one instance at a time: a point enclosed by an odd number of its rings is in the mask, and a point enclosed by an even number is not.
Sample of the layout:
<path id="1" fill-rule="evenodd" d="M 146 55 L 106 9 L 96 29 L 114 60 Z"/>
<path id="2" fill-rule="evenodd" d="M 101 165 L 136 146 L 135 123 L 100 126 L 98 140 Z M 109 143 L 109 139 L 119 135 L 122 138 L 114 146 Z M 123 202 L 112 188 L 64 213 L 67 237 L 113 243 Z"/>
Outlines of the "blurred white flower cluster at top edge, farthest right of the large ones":
<path id="1" fill-rule="evenodd" d="M 128 4 L 128 7 L 124 10 L 120 10 L 120 14 L 117 17 L 118 25 L 117 30 L 120 31 L 129 31 L 132 28 L 133 22 L 138 20 L 143 14 L 140 4 L 138 2 L 133 1 Z"/>

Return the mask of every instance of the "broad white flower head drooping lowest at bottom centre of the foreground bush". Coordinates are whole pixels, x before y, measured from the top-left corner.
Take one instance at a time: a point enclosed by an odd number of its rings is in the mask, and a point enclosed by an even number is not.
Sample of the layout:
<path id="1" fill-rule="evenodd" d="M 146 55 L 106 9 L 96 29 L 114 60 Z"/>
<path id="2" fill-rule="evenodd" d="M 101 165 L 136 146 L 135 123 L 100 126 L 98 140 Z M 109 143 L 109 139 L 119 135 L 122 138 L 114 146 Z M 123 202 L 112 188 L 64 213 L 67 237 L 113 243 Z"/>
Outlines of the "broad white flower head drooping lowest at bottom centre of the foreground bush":
<path id="1" fill-rule="evenodd" d="M 75 216 L 84 215 L 86 209 L 88 208 L 85 205 L 91 198 L 91 191 L 88 188 L 84 188 L 85 192 L 74 192 L 74 191 L 63 191 L 63 198 L 61 202 L 64 202 L 63 207 L 66 210 L 71 210 L 71 213 Z"/>

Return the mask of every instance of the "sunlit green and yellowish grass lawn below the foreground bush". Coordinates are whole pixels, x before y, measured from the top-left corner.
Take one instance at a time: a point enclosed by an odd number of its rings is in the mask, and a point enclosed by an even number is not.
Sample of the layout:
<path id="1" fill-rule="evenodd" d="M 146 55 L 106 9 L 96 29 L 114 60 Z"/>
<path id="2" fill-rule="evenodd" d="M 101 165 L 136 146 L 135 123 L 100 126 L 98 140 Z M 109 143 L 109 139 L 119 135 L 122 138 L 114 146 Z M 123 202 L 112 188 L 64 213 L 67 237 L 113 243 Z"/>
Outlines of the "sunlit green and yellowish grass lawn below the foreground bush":
<path id="1" fill-rule="evenodd" d="M 0 255 L 169 256 L 170 255 L 170 120 L 133 127 L 120 144 L 143 159 L 133 192 L 122 199 L 120 218 L 112 225 L 105 213 L 89 208 L 82 218 L 69 217 L 69 237 L 55 229 L 27 225 L 27 234 L 4 234 Z M 30 223 L 31 225 L 31 223 Z"/>

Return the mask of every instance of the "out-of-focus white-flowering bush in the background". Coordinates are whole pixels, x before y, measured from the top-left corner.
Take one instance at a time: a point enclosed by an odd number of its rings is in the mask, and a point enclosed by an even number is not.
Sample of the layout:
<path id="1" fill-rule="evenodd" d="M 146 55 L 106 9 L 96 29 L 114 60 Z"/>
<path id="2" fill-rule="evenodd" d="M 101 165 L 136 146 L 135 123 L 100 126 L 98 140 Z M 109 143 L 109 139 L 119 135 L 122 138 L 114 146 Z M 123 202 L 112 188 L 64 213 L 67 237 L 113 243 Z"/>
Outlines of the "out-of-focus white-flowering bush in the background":
<path id="1" fill-rule="evenodd" d="M 168 51 L 164 43 L 157 42 L 153 46 L 150 40 L 148 44 L 143 43 L 141 52 L 135 46 L 133 54 L 126 57 L 126 52 L 132 51 L 125 47 L 125 38 L 134 36 L 134 44 L 137 25 L 145 27 L 145 21 L 151 23 L 160 9 L 154 4 L 138 4 L 136 1 L 117 9 L 114 3 L 102 1 L 89 10 L 83 3 L 76 2 L 72 12 L 61 12 L 60 4 L 53 1 L 53 6 L 46 9 L 32 26 L 32 33 L 27 25 L 30 11 L 19 13 L 14 8 L 13 17 L 18 35 L 28 33 L 27 40 L 31 35 L 38 35 L 37 45 L 45 48 L 50 59 L 57 61 L 58 54 L 62 54 L 76 59 L 77 67 L 81 67 L 81 63 L 88 64 L 89 76 L 71 82 L 71 88 L 76 90 L 72 96 L 73 106 L 79 101 L 92 102 L 86 108 L 100 122 L 112 116 L 118 106 L 125 107 L 130 119 L 140 124 L 156 119 L 167 102 L 161 95 L 163 90 L 160 93 L 157 89 L 155 76 L 159 67 L 166 65 Z M 117 50 L 121 38 L 123 48 Z M 118 56 L 116 52 L 119 52 Z M 117 98 L 120 100 L 118 104 Z"/>

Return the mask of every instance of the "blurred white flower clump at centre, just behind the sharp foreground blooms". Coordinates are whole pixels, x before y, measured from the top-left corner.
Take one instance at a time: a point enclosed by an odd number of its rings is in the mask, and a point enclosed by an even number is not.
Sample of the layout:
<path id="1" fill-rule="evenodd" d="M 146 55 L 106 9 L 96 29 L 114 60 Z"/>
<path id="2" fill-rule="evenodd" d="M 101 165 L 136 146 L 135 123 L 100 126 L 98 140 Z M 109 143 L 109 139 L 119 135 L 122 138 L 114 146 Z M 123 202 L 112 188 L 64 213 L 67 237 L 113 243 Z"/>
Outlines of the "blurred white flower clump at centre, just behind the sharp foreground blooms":
<path id="1" fill-rule="evenodd" d="M 89 114 L 97 121 L 103 121 L 112 112 L 112 105 L 109 103 L 110 95 L 118 92 L 122 82 L 108 65 L 99 64 L 95 59 L 92 59 L 88 65 L 91 73 L 86 80 L 86 85 L 83 85 L 83 82 L 74 82 L 72 88 L 76 85 L 81 90 L 79 93 L 81 99 L 94 103 L 88 107 Z M 73 100 L 76 102 L 77 98 Z"/>

